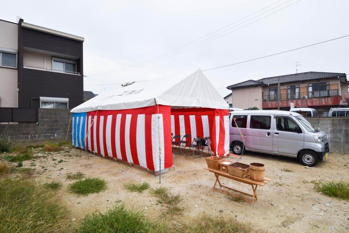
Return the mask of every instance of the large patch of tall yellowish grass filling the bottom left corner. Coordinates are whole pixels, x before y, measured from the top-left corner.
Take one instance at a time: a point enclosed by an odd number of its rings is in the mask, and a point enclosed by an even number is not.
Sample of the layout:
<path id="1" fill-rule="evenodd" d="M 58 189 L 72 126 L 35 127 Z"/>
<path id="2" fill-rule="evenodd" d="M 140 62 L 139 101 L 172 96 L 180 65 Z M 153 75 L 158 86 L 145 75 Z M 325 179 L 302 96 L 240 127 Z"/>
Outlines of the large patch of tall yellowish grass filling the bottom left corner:
<path id="1" fill-rule="evenodd" d="M 0 182 L 1 232 L 65 232 L 68 211 L 51 190 L 31 179 Z"/>

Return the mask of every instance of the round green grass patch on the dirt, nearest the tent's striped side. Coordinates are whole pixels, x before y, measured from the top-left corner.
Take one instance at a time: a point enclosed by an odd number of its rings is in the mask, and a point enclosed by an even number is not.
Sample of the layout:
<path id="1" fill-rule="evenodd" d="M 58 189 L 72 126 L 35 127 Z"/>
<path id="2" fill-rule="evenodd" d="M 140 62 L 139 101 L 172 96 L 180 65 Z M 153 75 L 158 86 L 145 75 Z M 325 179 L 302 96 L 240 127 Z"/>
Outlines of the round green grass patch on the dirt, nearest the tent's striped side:
<path id="1" fill-rule="evenodd" d="M 91 193 L 99 193 L 104 191 L 106 188 L 106 181 L 96 177 L 75 181 L 68 186 L 69 191 L 84 196 Z"/>

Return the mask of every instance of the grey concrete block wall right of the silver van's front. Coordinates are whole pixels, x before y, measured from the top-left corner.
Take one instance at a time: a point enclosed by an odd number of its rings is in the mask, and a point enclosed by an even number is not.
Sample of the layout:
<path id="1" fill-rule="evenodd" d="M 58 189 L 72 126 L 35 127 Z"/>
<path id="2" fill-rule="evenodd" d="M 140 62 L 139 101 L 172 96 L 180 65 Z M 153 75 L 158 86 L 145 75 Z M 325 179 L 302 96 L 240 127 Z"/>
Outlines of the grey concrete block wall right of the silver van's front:
<path id="1" fill-rule="evenodd" d="M 331 152 L 349 153 L 348 117 L 312 117 L 307 120 L 314 127 L 327 133 Z"/>

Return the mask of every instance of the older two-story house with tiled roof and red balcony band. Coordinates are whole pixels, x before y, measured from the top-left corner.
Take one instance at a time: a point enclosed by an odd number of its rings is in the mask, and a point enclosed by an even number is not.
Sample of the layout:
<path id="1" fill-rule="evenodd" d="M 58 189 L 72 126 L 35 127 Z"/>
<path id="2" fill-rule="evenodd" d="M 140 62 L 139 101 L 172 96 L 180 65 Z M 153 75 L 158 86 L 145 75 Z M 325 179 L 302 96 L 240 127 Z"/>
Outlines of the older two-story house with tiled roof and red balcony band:
<path id="1" fill-rule="evenodd" d="M 232 91 L 233 107 L 277 109 L 280 93 L 280 110 L 289 110 L 292 103 L 315 108 L 325 116 L 329 108 L 348 104 L 348 84 L 345 73 L 305 72 L 248 80 L 227 89 Z"/>

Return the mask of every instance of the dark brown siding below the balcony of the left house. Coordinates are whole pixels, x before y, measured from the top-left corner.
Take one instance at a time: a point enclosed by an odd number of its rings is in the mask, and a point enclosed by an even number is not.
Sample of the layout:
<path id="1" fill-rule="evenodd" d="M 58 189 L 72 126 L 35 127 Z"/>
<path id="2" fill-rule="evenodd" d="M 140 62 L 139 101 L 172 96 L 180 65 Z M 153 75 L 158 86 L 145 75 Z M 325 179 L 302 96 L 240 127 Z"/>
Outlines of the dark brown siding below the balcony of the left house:
<path id="1" fill-rule="evenodd" d="M 37 100 L 33 100 L 33 107 L 40 107 L 40 96 L 69 98 L 69 108 L 83 103 L 83 77 L 81 75 L 26 68 L 23 68 L 22 75 L 23 107 L 30 107 L 31 98 L 37 98 Z"/>

